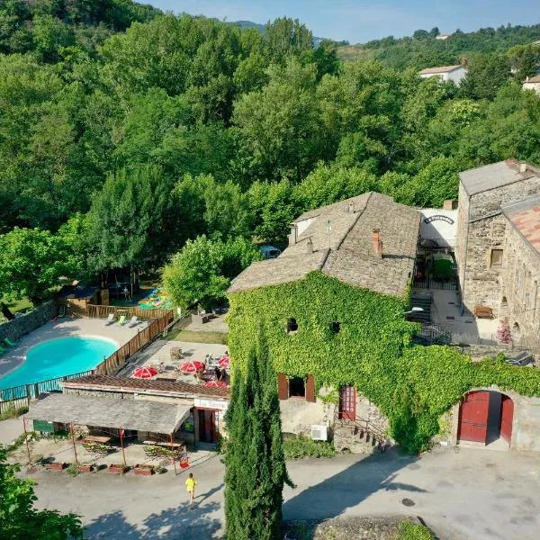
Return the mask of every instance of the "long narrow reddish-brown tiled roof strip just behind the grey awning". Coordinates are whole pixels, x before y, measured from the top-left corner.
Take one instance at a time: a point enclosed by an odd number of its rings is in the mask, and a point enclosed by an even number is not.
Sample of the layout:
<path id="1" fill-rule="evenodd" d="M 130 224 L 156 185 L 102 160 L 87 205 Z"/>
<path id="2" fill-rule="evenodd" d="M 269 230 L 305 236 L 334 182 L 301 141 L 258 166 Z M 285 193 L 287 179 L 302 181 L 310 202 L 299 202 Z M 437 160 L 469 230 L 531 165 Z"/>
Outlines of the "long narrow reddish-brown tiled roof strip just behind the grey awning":
<path id="1" fill-rule="evenodd" d="M 228 388 L 205 388 L 198 384 L 155 379 L 131 379 L 114 375 L 85 375 L 60 383 L 66 388 L 106 388 L 110 391 L 156 391 L 175 397 L 229 398 Z"/>

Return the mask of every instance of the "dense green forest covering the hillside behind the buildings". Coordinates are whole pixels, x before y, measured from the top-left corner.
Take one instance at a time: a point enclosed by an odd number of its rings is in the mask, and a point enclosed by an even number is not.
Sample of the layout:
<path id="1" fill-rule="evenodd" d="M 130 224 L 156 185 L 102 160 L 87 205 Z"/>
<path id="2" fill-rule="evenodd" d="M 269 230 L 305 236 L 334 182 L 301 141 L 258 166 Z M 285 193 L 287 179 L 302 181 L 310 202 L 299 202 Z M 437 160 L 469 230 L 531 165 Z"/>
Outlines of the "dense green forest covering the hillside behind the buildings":
<path id="1" fill-rule="evenodd" d="M 0 238 L 12 260 L 45 238 L 82 277 L 157 269 L 202 235 L 279 244 L 302 211 L 367 190 L 440 206 L 460 170 L 540 163 L 540 99 L 520 85 L 540 31 L 520 28 L 481 31 L 498 45 L 471 47 L 456 87 L 421 80 L 418 58 L 343 63 L 292 19 L 261 33 L 130 0 L 6 0 Z"/>

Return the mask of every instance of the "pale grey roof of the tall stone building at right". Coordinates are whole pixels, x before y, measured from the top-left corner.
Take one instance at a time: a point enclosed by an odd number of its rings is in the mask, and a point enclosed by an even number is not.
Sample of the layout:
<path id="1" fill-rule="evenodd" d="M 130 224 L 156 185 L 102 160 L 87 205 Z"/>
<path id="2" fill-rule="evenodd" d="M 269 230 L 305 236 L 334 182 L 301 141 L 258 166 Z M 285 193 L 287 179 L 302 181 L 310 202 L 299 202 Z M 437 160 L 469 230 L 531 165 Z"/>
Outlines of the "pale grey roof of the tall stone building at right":
<path id="1" fill-rule="evenodd" d="M 514 184 L 538 175 L 536 169 L 527 166 L 525 173 L 519 172 L 520 163 L 507 159 L 491 165 L 479 166 L 459 174 L 464 190 L 468 195 L 476 195 L 503 185 Z"/>

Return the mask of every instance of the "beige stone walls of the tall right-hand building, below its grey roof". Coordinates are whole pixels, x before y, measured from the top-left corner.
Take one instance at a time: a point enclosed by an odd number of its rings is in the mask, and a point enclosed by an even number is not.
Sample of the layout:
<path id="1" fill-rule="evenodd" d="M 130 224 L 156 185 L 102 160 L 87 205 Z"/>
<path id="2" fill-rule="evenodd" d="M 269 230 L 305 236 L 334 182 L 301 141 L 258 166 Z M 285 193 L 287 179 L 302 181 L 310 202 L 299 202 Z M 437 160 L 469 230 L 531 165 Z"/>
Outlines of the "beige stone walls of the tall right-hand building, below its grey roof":
<path id="1" fill-rule="evenodd" d="M 513 276 L 509 274 L 512 266 L 503 262 L 508 260 L 504 246 L 509 227 L 501 207 L 535 193 L 540 193 L 538 175 L 473 195 L 460 184 L 455 256 L 465 311 L 483 305 L 491 307 L 496 316 L 504 314 L 503 282 L 510 282 Z M 493 249 L 503 250 L 503 261 L 494 257 Z"/>

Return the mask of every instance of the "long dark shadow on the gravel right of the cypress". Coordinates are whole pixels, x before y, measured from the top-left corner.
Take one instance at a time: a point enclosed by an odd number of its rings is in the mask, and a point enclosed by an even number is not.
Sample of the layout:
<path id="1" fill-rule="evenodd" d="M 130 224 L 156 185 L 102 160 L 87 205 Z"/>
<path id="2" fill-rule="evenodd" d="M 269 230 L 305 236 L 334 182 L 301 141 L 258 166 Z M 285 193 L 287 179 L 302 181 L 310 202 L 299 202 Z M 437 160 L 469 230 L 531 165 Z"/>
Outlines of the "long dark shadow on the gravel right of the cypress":
<path id="1" fill-rule="evenodd" d="M 376 491 L 425 493 L 417 486 L 393 482 L 398 471 L 418 459 L 416 455 L 401 455 L 395 449 L 370 455 L 287 500 L 284 519 L 337 518 Z"/>

